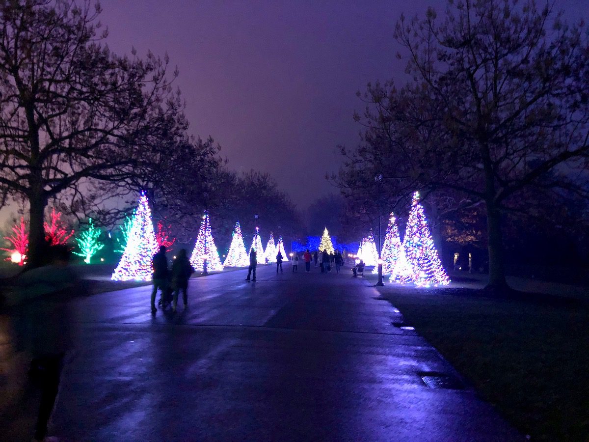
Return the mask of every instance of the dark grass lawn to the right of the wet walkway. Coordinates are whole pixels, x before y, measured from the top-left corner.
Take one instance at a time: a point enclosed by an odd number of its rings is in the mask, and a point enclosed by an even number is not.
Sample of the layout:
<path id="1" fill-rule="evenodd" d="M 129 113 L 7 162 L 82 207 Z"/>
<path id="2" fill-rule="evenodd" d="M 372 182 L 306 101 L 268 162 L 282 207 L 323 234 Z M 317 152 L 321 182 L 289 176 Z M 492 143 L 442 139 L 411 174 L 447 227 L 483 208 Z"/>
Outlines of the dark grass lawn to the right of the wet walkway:
<path id="1" fill-rule="evenodd" d="M 532 440 L 589 440 L 589 306 L 379 288 L 482 398 Z"/>

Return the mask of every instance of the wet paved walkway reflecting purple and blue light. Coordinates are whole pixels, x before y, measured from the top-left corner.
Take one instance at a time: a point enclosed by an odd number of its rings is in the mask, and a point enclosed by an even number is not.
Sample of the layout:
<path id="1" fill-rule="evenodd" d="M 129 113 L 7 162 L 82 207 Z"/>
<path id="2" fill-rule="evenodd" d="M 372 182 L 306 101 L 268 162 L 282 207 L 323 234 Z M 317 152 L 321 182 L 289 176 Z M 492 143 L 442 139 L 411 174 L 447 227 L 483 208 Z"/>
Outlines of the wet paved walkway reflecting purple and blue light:
<path id="1" fill-rule="evenodd" d="M 349 273 L 258 270 L 193 279 L 151 316 L 151 288 L 77 302 L 80 346 L 52 434 L 67 440 L 520 440 L 387 301 Z"/>

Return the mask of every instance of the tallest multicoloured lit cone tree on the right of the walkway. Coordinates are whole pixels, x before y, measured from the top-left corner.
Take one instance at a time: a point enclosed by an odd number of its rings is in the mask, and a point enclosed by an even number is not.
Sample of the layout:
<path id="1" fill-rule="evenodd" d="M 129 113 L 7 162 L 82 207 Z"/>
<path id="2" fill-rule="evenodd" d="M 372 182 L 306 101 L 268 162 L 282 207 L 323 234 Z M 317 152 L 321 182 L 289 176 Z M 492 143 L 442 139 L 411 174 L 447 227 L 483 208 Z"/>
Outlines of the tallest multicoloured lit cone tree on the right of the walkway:
<path id="1" fill-rule="evenodd" d="M 416 285 L 428 287 L 447 285 L 450 282 L 440 262 L 434 239 L 429 232 L 423 206 L 419 204 L 419 192 L 413 193 L 413 203 L 403 244 L 407 259 L 413 268 L 413 279 Z"/>

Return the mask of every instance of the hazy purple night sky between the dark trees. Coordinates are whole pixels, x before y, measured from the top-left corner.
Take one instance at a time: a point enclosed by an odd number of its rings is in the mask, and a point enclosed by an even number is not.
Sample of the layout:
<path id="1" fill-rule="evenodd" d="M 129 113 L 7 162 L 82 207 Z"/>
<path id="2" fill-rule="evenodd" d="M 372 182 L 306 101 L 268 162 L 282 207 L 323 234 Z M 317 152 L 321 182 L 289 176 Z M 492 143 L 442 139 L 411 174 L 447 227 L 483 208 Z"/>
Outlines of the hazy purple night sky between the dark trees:
<path id="1" fill-rule="evenodd" d="M 542 3 L 541 1 L 539 2 Z M 355 146 L 356 97 L 368 81 L 405 81 L 393 28 L 445 0 L 104 0 L 101 21 L 118 54 L 170 55 L 191 133 L 213 136 L 229 167 L 267 171 L 300 209 L 336 192 L 326 172 L 337 144 Z M 569 19 L 589 1 L 557 0 Z"/>

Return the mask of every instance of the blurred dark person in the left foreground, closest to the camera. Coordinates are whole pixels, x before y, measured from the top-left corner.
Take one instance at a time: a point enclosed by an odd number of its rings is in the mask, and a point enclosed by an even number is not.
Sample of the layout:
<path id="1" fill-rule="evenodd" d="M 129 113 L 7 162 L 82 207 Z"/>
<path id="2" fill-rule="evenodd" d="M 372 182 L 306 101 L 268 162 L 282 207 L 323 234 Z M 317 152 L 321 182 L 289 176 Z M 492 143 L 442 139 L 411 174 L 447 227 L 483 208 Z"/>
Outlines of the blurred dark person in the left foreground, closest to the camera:
<path id="1" fill-rule="evenodd" d="M 68 266 L 67 246 L 50 247 L 48 258 L 48 265 L 22 273 L 15 291 L 6 297 L 14 314 L 16 351 L 25 351 L 31 357 L 29 377 L 41 391 L 34 441 L 47 436 L 47 423 L 74 336 L 68 301 L 84 293 L 77 287 L 77 275 Z"/>

